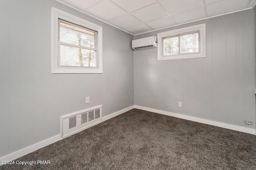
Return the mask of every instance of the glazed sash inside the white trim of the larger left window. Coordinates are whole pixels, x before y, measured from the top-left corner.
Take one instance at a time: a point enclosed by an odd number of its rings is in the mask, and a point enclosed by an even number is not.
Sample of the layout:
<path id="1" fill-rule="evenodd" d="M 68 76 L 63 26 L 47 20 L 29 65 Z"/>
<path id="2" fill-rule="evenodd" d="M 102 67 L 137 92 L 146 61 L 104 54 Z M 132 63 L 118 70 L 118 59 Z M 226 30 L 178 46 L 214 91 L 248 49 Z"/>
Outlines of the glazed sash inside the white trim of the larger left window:
<path id="1" fill-rule="evenodd" d="M 97 67 L 97 32 L 59 19 L 59 66 Z"/>

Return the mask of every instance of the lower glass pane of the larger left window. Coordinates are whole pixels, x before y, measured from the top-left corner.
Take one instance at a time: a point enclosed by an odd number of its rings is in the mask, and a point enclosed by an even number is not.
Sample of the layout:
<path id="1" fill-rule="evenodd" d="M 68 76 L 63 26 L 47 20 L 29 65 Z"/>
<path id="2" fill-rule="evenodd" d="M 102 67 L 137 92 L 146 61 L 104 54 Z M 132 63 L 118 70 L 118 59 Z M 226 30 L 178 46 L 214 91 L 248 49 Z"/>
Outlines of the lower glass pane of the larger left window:
<path id="1" fill-rule="evenodd" d="M 96 51 L 60 45 L 60 65 L 96 67 Z"/>

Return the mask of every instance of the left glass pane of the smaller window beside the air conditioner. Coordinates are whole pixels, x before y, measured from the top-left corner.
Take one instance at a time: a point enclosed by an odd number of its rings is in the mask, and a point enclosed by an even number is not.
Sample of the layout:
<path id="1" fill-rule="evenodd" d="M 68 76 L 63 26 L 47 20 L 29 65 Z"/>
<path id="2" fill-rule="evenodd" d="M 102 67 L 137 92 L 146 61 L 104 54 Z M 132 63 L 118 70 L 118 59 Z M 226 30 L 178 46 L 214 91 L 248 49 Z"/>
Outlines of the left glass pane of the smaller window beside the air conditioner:
<path id="1" fill-rule="evenodd" d="M 164 39 L 164 56 L 179 54 L 179 38 L 172 37 Z"/>

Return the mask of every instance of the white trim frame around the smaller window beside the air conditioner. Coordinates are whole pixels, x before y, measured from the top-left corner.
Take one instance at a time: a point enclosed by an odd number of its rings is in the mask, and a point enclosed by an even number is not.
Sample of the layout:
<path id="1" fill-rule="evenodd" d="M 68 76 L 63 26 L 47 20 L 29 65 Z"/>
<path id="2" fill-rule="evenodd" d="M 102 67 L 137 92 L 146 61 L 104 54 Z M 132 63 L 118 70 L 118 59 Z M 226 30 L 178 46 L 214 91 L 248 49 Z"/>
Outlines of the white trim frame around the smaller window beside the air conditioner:
<path id="1" fill-rule="evenodd" d="M 164 45 L 163 45 L 163 39 L 166 37 L 172 37 L 176 36 L 178 34 L 183 34 L 183 33 L 189 33 L 193 31 L 199 31 L 199 48 L 200 52 L 199 53 L 187 53 L 187 54 L 179 54 L 179 55 L 169 55 L 169 56 L 164 56 Z M 180 29 L 175 29 L 171 31 L 166 31 L 162 33 L 157 34 L 157 39 L 158 39 L 158 47 L 157 47 L 157 60 L 175 60 L 175 59 L 191 59 L 191 58 L 201 58 L 201 57 L 206 57 L 206 25 L 200 24 L 200 25 L 194 25 L 191 27 L 185 27 L 185 28 L 180 28 Z"/>

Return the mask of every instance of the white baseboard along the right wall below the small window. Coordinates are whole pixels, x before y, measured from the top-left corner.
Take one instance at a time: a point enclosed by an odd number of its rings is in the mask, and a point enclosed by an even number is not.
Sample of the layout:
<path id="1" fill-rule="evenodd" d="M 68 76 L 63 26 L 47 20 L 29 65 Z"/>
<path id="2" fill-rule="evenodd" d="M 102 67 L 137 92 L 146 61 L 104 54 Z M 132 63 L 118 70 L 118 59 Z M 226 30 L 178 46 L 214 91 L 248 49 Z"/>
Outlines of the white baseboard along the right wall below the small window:
<path id="1" fill-rule="evenodd" d="M 168 111 L 162 111 L 162 110 L 158 110 L 158 109 L 152 109 L 152 108 L 143 107 L 143 106 L 134 105 L 134 108 L 141 109 L 141 110 L 146 110 L 146 111 L 151 111 L 151 112 L 154 112 L 154 113 L 160 113 L 162 115 L 177 117 L 177 118 L 180 118 L 180 119 L 186 119 L 186 120 L 196 121 L 196 122 L 204 123 L 204 124 L 208 124 L 208 125 L 218 126 L 218 127 L 222 127 L 222 128 L 225 128 L 225 129 L 231 129 L 231 130 L 234 130 L 234 131 L 240 131 L 240 132 L 250 133 L 250 134 L 256 135 L 256 129 L 252 129 L 252 128 L 248 128 L 248 127 L 230 125 L 230 124 L 227 124 L 227 123 L 221 123 L 221 122 L 217 122 L 217 121 L 201 119 L 201 118 L 197 118 L 197 117 L 182 115 L 182 114 L 178 114 L 178 113 L 172 113 L 172 112 L 168 112 Z"/>

